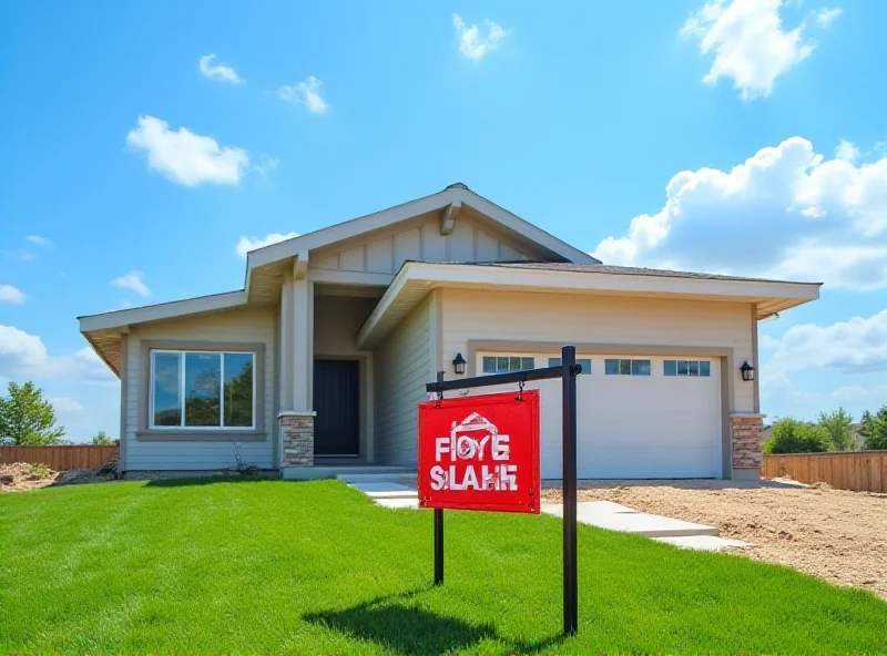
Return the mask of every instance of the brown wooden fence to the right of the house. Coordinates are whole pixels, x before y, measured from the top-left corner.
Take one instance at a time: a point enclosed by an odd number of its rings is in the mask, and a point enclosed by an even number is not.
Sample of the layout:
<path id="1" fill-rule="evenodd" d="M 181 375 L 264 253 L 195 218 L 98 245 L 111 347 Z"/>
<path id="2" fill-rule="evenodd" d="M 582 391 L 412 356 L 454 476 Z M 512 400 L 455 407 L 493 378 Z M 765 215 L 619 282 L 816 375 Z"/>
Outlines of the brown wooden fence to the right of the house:
<path id="1" fill-rule="evenodd" d="M 828 483 L 840 490 L 887 492 L 887 451 L 765 455 L 761 475 Z"/>

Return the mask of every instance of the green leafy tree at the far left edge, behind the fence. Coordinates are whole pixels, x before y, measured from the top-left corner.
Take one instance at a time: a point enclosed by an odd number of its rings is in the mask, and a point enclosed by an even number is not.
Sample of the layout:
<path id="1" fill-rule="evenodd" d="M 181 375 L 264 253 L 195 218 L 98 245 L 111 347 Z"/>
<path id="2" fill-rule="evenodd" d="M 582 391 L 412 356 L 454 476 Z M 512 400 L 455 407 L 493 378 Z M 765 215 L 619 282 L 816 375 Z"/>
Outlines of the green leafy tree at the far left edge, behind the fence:
<path id="1" fill-rule="evenodd" d="M 33 382 L 9 383 L 8 396 L 0 397 L 0 444 L 58 444 L 64 428 L 55 426 L 55 410 L 43 399 Z"/>

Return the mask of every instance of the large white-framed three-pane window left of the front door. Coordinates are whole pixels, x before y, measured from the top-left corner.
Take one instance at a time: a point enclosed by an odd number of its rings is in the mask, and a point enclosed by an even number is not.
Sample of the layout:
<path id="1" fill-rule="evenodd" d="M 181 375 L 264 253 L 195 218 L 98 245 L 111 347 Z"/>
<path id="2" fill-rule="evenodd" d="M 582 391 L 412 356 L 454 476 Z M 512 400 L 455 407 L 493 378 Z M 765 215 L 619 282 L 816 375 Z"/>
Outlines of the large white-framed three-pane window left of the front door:
<path id="1" fill-rule="evenodd" d="M 149 385 L 151 429 L 256 427 L 254 352 L 152 349 Z"/>

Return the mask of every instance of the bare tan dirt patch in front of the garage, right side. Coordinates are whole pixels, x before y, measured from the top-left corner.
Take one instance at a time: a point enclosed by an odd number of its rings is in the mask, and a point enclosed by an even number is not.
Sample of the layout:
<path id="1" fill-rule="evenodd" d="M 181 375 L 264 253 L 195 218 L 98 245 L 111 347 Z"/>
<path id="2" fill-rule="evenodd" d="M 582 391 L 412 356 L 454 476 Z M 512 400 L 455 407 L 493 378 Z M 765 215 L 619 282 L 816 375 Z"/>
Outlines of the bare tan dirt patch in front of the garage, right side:
<path id="1" fill-rule="evenodd" d="M 791 481 L 583 481 L 579 489 L 580 501 L 717 526 L 753 545 L 737 554 L 887 599 L 887 494 Z M 542 500 L 560 502 L 560 485 L 543 490 Z"/>

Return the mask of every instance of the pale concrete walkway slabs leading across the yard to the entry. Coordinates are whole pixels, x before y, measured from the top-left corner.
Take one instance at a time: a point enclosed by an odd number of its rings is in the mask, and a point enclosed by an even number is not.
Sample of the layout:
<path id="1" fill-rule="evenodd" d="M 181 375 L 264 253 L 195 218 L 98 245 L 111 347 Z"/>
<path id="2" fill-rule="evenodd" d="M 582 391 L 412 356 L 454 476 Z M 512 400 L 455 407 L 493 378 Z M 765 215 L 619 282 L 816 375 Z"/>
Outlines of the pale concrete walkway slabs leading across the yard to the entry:
<path id="1" fill-rule="evenodd" d="M 347 482 L 351 488 L 359 490 L 384 508 L 419 508 L 419 498 L 415 485 L 379 480 Z M 560 517 L 563 516 L 563 505 L 543 503 L 542 512 Z M 715 526 L 639 513 L 628 505 L 612 501 L 580 501 L 577 505 L 577 521 L 590 526 L 643 535 L 659 542 L 696 551 L 722 551 L 750 546 L 748 543 L 740 540 L 721 537 L 721 532 Z"/>

